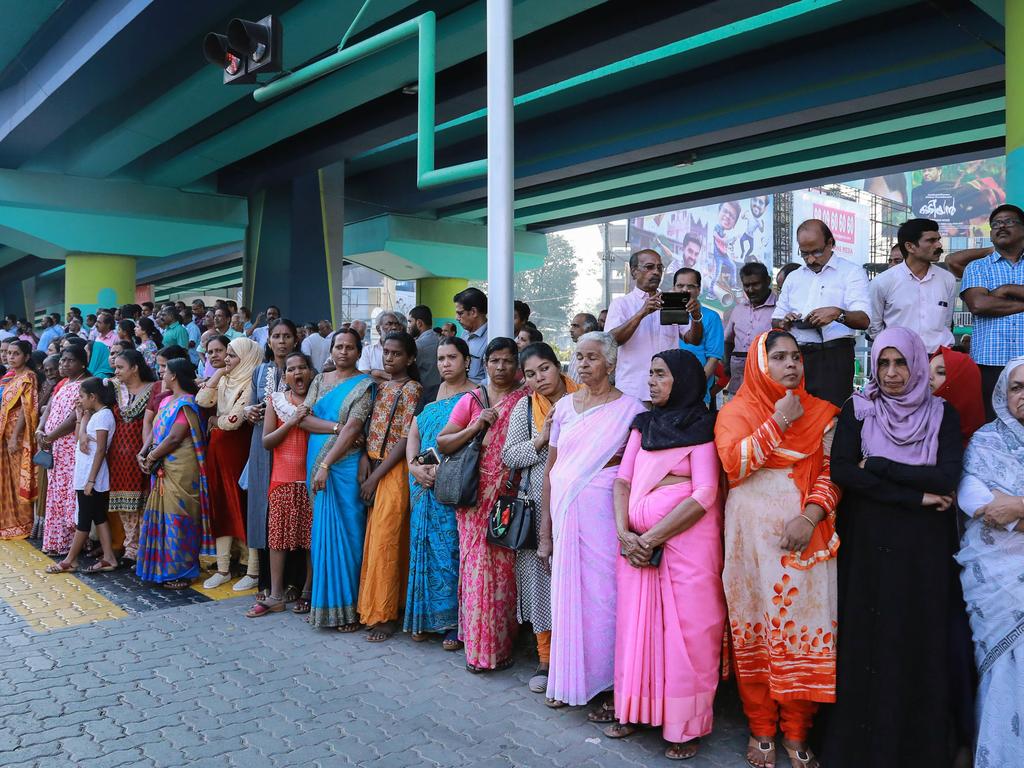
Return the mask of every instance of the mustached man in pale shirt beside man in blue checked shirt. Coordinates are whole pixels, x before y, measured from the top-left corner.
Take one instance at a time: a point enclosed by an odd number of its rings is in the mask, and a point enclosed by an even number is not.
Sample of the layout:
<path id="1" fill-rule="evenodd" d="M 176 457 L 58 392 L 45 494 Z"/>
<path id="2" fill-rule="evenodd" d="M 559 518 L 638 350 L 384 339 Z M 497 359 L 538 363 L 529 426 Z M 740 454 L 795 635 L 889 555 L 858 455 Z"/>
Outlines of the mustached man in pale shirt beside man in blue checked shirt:
<path id="1" fill-rule="evenodd" d="M 887 328 L 914 331 L 929 353 L 954 343 L 953 304 L 956 279 L 936 266 L 942 257 L 939 224 L 931 219 L 910 219 L 899 228 L 903 260 L 871 281 L 871 325 L 877 337 Z"/>

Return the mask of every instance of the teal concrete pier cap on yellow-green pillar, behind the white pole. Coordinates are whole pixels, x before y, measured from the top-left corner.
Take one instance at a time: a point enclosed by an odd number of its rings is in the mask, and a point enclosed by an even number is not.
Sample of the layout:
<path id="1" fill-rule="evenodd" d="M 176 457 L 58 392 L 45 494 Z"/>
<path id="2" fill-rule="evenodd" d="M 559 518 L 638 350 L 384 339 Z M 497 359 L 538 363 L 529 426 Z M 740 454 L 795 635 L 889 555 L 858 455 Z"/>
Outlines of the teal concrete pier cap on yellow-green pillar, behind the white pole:
<path id="1" fill-rule="evenodd" d="M 516 271 L 536 269 L 548 254 L 547 236 L 515 231 Z M 463 221 L 375 216 L 345 226 L 345 260 L 394 280 L 487 276 L 487 230 Z"/>

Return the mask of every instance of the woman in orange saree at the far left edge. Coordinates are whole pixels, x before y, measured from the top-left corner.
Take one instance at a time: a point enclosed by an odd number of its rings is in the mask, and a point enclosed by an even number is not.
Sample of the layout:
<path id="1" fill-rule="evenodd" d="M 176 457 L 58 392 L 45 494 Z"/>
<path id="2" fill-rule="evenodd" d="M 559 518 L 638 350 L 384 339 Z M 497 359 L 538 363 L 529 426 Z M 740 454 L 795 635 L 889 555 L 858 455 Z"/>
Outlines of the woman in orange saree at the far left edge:
<path id="1" fill-rule="evenodd" d="M 0 539 L 27 539 L 32 532 L 38 476 L 32 464 L 39 421 L 39 377 L 29 367 L 32 345 L 13 341 L 0 397 Z"/>

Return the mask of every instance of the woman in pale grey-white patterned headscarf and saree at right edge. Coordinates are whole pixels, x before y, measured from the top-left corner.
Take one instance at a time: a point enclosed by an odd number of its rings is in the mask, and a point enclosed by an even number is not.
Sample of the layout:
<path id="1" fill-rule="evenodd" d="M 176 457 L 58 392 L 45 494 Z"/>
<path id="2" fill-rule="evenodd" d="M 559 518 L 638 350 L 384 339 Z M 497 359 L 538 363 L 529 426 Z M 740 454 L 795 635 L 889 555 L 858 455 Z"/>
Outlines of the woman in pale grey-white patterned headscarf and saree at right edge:
<path id="1" fill-rule="evenodd" d="M 1002 370 L 992 408 L 957 492 L 970 519 L 956 559 L 981 678 L 976 768 L 1024 765 L 1024 357 Z"/>

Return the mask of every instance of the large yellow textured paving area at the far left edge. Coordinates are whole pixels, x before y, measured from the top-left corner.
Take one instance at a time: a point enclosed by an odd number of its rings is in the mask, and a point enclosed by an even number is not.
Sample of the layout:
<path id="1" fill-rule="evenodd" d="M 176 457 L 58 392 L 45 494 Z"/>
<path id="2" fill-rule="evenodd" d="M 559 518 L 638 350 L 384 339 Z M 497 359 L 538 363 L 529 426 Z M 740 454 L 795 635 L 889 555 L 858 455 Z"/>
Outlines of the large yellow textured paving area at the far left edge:
<path id="1" fill-rule="evenodd" d="M 53 560 L 25 541 L 0 542 L 0 599 L 36 632 L 50 632 L 127 613 L 72 574 L 48 574 Z"/>

